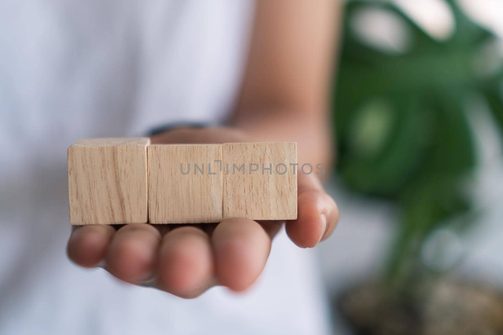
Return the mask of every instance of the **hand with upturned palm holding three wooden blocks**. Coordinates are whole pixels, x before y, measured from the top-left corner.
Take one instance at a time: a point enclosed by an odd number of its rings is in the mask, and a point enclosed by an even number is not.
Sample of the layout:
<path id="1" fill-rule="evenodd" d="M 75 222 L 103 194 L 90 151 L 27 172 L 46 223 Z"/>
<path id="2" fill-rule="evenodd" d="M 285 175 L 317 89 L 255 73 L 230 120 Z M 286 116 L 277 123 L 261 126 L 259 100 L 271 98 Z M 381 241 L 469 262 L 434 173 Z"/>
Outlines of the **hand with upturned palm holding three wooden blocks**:
<path id="1" fill-rule="evenodd" d="M 225 143 L 248 141 L 231 129 L 179 129 L 152 143 Z M 339 210 L 314 174 L 298 174 L 298 217 L 286 232 L 301 248 L 312 248 L 337 226 Z M 77 227 L 68 240 L 68 256 L 83 267 L 105 269 L 137 285 L 154 286 L 179 297 L 197 297 L 214 285 L 242 291 L 264 269 L 271 241 L 283 221 L 228 218 L 219 224 L 130 224 Z"/>

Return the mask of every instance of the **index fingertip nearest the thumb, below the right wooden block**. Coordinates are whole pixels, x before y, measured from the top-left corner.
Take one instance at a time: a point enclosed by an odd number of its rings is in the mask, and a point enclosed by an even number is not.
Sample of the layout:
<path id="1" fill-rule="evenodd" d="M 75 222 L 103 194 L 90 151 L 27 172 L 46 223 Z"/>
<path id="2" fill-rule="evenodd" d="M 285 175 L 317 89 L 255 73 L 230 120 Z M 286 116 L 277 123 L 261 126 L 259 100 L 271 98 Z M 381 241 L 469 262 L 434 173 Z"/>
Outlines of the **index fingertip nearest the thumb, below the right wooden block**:
<path id="1" fill-rule="evenodd" d="M 264 270 L 271 251 L 271 237 L 256 221 L 225 219 L 212 236 L 216 274 L 222 285 L 242 291 Z"/>

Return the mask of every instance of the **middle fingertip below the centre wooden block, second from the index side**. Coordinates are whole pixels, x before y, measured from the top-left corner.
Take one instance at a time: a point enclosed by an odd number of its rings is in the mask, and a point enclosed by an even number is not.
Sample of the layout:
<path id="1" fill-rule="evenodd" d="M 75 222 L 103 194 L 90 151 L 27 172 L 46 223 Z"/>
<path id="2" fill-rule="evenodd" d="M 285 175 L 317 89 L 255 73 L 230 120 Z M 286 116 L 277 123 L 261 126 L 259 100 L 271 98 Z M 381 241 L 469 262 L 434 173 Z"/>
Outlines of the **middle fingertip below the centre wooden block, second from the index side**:
<path id="1" fill-rule="evenodd" d="M 208 234 L 185 226 L 162 239 L 157 285 L 183 298 L 193 298 L 213 286 L 213 254 Z"/>

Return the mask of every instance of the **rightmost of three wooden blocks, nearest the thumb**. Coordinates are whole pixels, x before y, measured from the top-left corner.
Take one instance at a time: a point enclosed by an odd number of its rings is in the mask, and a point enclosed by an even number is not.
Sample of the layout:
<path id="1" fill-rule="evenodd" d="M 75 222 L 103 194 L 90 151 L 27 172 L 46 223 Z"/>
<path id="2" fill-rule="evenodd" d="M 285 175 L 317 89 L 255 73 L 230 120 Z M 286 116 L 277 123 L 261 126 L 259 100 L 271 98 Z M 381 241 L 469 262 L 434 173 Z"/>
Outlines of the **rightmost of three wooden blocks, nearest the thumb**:
<path id="1" fill-rule="evenodd" d="M 297 218 L 296 143 L 225 143 L 222 157 L 224 218 Z"/>

